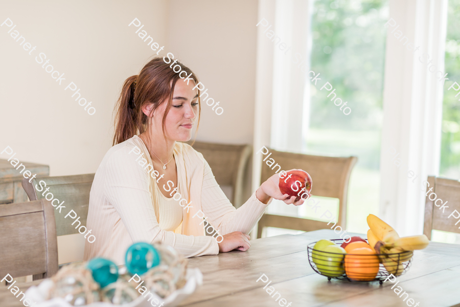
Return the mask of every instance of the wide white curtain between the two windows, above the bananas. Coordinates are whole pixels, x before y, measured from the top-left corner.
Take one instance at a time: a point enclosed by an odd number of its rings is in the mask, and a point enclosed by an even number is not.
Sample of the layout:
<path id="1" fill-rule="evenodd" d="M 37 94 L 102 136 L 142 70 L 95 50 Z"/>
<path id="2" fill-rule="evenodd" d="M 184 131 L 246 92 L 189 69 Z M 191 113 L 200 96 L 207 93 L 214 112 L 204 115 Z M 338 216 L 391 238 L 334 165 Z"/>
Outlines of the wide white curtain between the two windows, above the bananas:
<path id="1" fill-rule="evenodd" d="M 380 216 L 400 235 L 421 234 L 422 183 L 439 173 L 443 82 L 436 72 L 444 72 L 447 0 L 392 0 L 389 17 L 396 25 L 387 26 Z M 408 50 L 398 30 L 419 50 Z"/>

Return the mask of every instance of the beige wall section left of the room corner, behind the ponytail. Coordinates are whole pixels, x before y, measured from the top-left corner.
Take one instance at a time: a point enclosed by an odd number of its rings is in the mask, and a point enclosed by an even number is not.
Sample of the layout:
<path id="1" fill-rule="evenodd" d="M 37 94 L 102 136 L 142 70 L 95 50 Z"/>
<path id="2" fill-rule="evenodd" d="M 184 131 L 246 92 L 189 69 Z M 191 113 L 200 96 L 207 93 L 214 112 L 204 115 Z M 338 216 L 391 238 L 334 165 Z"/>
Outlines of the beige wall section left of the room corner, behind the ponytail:
<path id="1" fill-rule="evenodd" d="M 17 25 L 10 34 L 17 30 L 37 48 L 29 55 L 0 27 L 2 150 L 9 145 L 20 161 L 50 165 L 52 176 L 95 172 L 111 146 L 121 84 L 153 53 L 128 24 L 139 18 L 164 44 L 165 10 L 166 1 L 3 2 L 1 23 L 9 17 Z M 35 61 L 40 52 L 64 73 L 60 86 Z M 64 91 L 71 81 L 94 115 Z"/>

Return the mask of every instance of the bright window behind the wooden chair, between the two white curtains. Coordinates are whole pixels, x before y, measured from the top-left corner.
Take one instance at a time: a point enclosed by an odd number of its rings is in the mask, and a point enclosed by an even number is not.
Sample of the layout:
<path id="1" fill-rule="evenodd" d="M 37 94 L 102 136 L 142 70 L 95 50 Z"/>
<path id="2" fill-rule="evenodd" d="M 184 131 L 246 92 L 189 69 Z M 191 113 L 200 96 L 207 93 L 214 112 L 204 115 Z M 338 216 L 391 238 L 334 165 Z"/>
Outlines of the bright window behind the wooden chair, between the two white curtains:
<path id="1" fill-rule="evenodd" d="M 309 127 L 303 136 L 303 152 L 311 155 L 357 156 L 349 185 L 347 231 L 367 231 L 366 216 L 378 213 L 380 133 L 388 3 L 386 0 L 317 0 L 311 17 L 311 69 L 332 84 L 335 94 L 348 102 L 352 112 L 311 84 Z M 325 82 L 325 81 L 324 81 Z M 308 91 L 306 91 L 308 93 Z M 337 98 L 335 97 L 335 98 Z M 338 103 L 338 102 L 337 102 Z M 313 178 L 314 194 L 314 178 Z M 275 202 L 276 203 L 276 202 Z M 321 198 L 321 212 L 338 216 L 338 200 Z M 320 219 L 311 207 L 273 204 L 271 214 Z M 350 214 L 353 212 L 353 214 Z M 297 233 L 268 229 L 267 235 Z"/>

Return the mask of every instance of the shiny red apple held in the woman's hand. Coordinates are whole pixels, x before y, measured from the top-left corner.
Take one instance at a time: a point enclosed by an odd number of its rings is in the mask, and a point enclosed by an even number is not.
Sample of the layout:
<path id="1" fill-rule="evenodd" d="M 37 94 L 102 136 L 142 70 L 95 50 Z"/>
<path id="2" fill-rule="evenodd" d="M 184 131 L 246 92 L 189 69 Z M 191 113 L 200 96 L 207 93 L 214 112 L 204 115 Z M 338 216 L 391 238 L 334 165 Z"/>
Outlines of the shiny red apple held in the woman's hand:
<path id="1" fill-rule="evenodd" d="M 295 201 L 301 198 L 306 200 L 309 197 L 311 185 L 311 177 L 308 172 L 299 169 L 288 171 L 285 176 L 280 175 L 278 184 L 281 193 L 289 194 L 289 197 L 297 196 Z"/>

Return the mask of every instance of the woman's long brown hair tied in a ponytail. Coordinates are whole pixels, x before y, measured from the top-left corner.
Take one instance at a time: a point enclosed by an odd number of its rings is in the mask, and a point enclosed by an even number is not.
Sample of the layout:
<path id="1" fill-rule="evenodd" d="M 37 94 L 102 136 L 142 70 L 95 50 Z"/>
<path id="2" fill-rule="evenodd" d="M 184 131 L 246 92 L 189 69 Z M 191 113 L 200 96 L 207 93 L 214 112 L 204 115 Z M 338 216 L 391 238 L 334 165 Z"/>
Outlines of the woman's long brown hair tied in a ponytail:
<path id="1" fill-rule="evenodd" d="M 192 74 L 191 79 L 195 81 L 195 84 L 198 84 L 198 79 L 195 77 L 192 70 L 179 61 L 176 61 L 175 65 L 180 65 L 182 71 L 187 73 L 187 76 Z M 148 118 L 151 117 L 153 112 L 169 97 L 162 122 L 163 135 L 166 140 L 166 115 L 171 108 L 174 86 L 179 79 L 179 73 L 175 73 L 173 69 L 169 67 L 169 63 L 166 63 L 162 57 L 153 58 L 144 66 L 139 75 L 131 76 L 126 79 L 125 83 L 123 83 L 120 98 L 115 107 L 116 109 L 118 108 L 118 110 L 115 120 L 113 145 L 124 142 L 134 135 L 146 131 L 149 123 Z M 198 96 L 199 94 L 200 91 L 198 90 Z M 142 112 L 142 106 L 149 103 L 153 103 L 153 108 L 149 116 L 147 116 Z M 197 130 L 200 124 L 201 114 L 199 97 L 198 106 Z"/>

